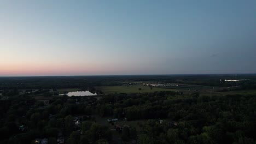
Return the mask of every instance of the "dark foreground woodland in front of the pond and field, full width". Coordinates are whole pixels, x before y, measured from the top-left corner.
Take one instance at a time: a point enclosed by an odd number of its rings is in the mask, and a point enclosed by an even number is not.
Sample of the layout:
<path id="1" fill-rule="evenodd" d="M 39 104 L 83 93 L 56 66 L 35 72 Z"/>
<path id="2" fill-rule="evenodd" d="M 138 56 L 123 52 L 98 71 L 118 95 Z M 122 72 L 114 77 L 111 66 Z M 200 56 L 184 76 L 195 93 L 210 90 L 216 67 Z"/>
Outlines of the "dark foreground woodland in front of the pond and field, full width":
<path id="1" fill-rule="evenodd" d="M 123 129 L 123 142 L 256 142 L 255 95 L 121 93 L 101 99 L 56 97 L 49 105 L 30 95 L 17 95 L 0 101 L 0 105 L 0 143 L 31 143 L 38 137 L 55 143 L 59 133 L 67 143 L 113 143 L 108 127 L 98 124 L 94 116 L 143 120 L 138 124 L 142 131 L 137 131 L 138 127 Z M 83 116 L 80 128 L 73 122 L 76 116 Z"/>

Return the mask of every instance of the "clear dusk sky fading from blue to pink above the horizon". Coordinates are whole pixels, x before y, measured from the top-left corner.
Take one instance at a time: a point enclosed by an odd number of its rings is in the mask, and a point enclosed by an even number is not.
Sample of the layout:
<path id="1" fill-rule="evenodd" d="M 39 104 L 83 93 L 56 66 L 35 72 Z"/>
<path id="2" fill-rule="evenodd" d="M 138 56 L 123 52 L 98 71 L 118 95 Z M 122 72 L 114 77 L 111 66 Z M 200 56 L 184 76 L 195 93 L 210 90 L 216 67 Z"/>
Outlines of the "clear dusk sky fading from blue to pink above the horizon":
<path id="1" fill-rule="evenodd" d="M 256 73 L 256 1 L 0 1 L 0 76 Z"/>

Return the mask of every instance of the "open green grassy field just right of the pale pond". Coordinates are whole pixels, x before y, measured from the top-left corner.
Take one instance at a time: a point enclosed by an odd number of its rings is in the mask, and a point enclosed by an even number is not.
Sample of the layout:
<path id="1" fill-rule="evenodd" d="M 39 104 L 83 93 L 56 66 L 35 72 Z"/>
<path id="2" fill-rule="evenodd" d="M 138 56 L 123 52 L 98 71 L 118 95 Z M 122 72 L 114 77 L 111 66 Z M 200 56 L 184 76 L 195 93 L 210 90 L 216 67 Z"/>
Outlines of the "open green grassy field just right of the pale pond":
<path id="1" fill-rule="evenodd" d="M 141 88 L 139 91 L 138 88 Z M 146 92 L 156 92 L 156 91 L 175 91 L 175 89 L 165 89 L 153 87 L 150 89 L 148 86 L 142 85 L 132 85 L 132 86 L 107 86 L 107 87 L 96 87 L 96 89 L 102 91 L 103 93 L 146 93 Z"/>

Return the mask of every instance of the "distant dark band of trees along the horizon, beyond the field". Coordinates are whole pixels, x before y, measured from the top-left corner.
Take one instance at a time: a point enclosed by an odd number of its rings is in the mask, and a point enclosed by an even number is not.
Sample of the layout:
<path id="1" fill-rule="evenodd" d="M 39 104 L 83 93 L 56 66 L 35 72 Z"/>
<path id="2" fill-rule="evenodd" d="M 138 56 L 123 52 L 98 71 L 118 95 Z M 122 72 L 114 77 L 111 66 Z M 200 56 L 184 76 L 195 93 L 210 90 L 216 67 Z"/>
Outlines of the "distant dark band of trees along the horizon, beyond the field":
<path id="1" fill-rule="evenodd" d="M 248 79 L 228 82 L 225 79 Z M 222 81 L 220 81 L 222 80 Z M 255 89 L 256 75 L 124 75 L 124 76 L 38 76 L 0 77 L 2 89 L 88 88 L 95 86 L 118 86 L 130 81 L 155 81 L 203 86 L 241 86 L 239 89 Z"/>

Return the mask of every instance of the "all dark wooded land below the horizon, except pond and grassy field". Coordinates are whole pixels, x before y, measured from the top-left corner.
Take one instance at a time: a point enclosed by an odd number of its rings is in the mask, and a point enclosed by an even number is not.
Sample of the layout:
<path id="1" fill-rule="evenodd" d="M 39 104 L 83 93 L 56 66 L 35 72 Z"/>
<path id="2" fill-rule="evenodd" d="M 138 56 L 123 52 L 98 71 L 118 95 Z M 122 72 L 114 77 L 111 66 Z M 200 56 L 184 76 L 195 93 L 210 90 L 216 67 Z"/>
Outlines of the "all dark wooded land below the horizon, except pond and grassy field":
<path id="1" fill-rule="evenodd" d="M 0 143 L 256 143 L 255 77 L 3 77 Z M 96 89 L 144 82 L 175 82 L 182 87 L 175 84 L 176 91 L 112 94 Z M 58 88 L 101 95 L 67 97 L 58 95 Z"/>

